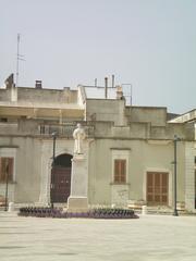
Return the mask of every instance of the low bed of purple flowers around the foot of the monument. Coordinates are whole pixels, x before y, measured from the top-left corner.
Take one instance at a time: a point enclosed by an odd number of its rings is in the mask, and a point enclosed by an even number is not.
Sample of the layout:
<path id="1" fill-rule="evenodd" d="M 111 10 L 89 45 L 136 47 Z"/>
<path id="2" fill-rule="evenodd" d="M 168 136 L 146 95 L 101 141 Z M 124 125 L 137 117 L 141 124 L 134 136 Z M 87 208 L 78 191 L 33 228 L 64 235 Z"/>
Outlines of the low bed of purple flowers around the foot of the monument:
<path id="1" fill-rule="evenodd" d="M 111 209 L 111 208 L 97 208 L 88 210 L 87 212 L 64 212 L 62 209 L 57 208 L 35 208 L 26 207 L 21 208 L 19 215 L 21 216 L 37 216 L 37 217 L 84 217 L 84 219 L 138 219 L 133 210 L 130 209 Z"/>

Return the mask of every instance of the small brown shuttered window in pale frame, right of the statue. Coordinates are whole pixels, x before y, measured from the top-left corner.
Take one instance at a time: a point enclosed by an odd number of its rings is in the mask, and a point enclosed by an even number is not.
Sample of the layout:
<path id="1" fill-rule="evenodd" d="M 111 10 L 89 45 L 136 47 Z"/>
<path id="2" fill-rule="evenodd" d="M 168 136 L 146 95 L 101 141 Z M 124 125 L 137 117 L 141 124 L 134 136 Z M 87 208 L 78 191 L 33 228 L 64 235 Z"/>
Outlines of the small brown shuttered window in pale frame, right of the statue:
<path id="1" fill-rule="evenodd" d="M 114 183 L 126 183 L 126 160 L 114 160 Z"/>

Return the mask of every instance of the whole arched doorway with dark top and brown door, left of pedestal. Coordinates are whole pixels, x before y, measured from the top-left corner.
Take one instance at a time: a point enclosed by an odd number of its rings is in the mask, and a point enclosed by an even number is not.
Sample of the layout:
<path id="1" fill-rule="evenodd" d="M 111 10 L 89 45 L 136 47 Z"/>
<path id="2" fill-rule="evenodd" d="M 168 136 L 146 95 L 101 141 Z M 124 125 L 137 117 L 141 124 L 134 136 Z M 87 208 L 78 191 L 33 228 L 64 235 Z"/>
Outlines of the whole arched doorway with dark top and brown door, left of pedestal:
<path id="1" fill-rule="evenodd" d="M 51 170 L 51 202 L 66 202 L 71 189 L 71 154 L 60 154 Z"/>

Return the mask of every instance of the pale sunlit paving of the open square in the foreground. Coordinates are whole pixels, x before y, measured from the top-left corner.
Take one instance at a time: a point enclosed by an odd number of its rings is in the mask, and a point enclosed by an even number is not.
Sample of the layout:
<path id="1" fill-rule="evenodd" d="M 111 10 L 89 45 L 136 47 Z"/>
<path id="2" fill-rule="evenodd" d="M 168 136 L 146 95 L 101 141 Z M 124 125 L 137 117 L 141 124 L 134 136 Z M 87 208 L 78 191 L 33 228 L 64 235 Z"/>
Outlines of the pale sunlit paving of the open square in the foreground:
<path id="1" fill-rule="evenodd" d="M 195 261 L 196 216 L 45 219 L 0 211 L 1 261 Z"/>

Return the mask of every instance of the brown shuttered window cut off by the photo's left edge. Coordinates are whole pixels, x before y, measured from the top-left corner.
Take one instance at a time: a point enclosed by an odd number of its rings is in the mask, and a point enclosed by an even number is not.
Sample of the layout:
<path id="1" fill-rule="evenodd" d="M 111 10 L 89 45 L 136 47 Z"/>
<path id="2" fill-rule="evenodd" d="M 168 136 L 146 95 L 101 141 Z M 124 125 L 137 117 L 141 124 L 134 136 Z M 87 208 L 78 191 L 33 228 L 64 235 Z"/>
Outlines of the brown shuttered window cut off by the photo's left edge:
<path id="1" fill-rule="evenodd" d="M 13 182 L 13 158 L 0 158 L 0 182 Z"/>

